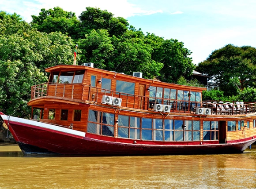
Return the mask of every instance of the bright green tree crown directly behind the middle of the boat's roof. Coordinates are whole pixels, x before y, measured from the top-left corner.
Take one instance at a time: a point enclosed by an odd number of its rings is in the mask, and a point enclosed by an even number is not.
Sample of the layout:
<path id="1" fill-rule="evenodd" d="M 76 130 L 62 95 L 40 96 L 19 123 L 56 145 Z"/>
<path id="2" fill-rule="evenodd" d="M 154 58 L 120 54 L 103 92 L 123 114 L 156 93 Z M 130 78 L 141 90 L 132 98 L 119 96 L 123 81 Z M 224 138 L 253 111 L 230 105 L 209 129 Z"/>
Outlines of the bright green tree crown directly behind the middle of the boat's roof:
<path id="1" fill-rule="evenodd" d="M 145 36 L 138 31 L 129 30 L 120 39 L 113 36 L 114 52 L 111 61 L 117 72 L 132 75 L 133 72 L 142 72 L 143 77 L 153 79 L 160 76 L 163 64 L 152 60 L 153 49 L 145 43 Z"/>

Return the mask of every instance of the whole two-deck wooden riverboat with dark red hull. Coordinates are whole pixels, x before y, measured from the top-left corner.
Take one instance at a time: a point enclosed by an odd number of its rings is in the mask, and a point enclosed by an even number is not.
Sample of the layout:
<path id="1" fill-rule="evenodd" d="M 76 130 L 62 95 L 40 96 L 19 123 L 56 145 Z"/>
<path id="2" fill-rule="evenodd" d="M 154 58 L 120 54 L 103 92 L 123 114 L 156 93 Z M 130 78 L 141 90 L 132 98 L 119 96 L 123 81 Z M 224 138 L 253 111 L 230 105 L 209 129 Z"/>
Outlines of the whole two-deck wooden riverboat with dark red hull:
<path id="1" fill-rule="evenodd" d="M 135 156 L 242 153 L 256 141 L 256 103 L 202 102 L 188 87 L 83 65 L 45 69 L 31 120 L 0 113 L 24 154 Z"/>

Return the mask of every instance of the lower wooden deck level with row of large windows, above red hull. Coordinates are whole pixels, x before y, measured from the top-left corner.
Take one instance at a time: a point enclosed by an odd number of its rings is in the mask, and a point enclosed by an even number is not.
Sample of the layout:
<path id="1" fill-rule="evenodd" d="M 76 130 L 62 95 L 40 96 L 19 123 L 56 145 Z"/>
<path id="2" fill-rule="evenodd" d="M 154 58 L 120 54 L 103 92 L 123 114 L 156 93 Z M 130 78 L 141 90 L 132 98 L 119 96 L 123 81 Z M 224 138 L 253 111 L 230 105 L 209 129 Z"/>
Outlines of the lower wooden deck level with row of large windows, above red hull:
<path id="1" fill-rule="evenodd" d="M 107 141 L 173 145 L 225 144 L 256 137 L 256 115 L 200 116 L 118 109 L 111 105 L 45 103 L 33 108 L 41 122 L 62 125 Z"/>

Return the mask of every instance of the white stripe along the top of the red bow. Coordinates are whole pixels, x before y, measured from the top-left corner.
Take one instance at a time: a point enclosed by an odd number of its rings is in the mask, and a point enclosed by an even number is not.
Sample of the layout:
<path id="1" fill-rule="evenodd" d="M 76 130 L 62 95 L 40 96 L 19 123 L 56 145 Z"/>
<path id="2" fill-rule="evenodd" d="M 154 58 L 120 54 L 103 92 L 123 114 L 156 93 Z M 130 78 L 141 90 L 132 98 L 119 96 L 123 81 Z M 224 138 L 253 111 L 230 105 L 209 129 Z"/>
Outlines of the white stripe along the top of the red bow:
<path id="1" fill-rule="evenodd" d="M 7 121 L 10 120 L 10 121 L 16 122 L 17 124 L 21 123 L 21 124 L 33 125 L 33 126 L 37 126 L 37 127 L 51 129 L 54 131 L 60 131 L 60 132 L 68 133 L 68 134 L 75 134 L 75 135 L 78 135 L 81 137 L 85 137 L 85 132 L 81 132 L 81 131 L 76 131 L 76 130 L 72 130 L 72 129 L 68 129 L 68 128 L 64 128 L 64 127 L 59 127 L 59 126 L 52 125 L 52 124 L 45 124 L 45 123 L 38 122 L 38 121 L 26 120 L 26 119 L 19 118 L 19 117 L 13 117 L 13 116 L 7 116 L 7 115 L 0 115 L 0 116 L 2 116 L 3 120 L 7 120 Z"/>

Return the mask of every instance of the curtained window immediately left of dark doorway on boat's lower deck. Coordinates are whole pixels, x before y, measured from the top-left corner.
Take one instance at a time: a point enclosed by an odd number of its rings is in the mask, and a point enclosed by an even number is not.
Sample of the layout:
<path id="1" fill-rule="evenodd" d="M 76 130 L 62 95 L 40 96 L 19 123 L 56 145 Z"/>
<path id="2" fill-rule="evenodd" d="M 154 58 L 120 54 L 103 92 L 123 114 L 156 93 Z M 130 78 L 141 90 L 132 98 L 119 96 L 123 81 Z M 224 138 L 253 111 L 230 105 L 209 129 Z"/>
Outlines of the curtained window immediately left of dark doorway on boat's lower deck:
<path id="1" fill-rule="evenodd" d="M 203 140 L 218 140 L 218 121 L 203 121 Z"/>

